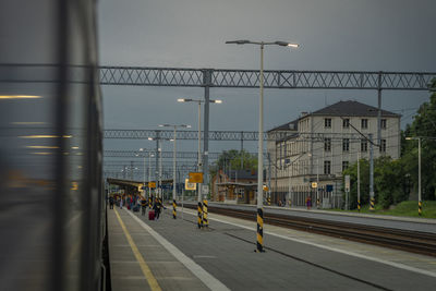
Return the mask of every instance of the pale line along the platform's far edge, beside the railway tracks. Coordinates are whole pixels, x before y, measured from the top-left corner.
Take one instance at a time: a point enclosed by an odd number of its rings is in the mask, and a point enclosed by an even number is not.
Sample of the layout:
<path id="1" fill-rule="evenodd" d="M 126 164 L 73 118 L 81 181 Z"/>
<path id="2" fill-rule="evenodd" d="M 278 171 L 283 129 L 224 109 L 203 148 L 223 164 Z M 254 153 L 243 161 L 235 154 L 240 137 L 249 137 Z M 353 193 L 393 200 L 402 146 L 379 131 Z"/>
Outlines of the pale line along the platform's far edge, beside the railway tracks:
<path id="1" fill-rule="evenodd" d="M 191 214 L 191 213 L 186 213 L 186 214 L 195 216 L 195 214 Z M 243 229 L 256 231 L 256 229 L 254 227 L 253 228 L 245 227 L 245 226 L 237 225 L 237 223 L 233 223 L 233 222 L 220 220 L 218 218 L 210 218 L 209 217 L 209 220 L 215 220 L 215 221 L 218 221 L 218 222 L 221 222 L 221 223 L 227 223 L 227 225 L 230 225 L 230 226 L 240 227 L 240 228 L 243 228 Z M 255 223 L 255 222 L 253 222 L 253 223 Z M 414 268 L 414 267 L 410 267 L 410 266 L 407 266 L 407 265 L 403 265 L 403 264 L 400 264 L 400 263 L 393 263 L 393 262 L 384 260 L 384 259 L 376 258 L 376 257 L 370 257 L 370 256 L 366 256 L 366 255 L 351 253 L 351 252 L 348 252 L 348 251 L 342 251 L 342 250 L 339 250 L 339 248 L 325 246 L 325 245 L 313 243 L 313 242 L 307 242 L 307 241 L 303 241 L 303 240 L 299 240 L 299 239 L 284 237 L 284 235 L 272 233 L 272 232 L 269 232 L 269 231 L 264 231 L 264 233 L 269 234 L 269 235 L 274 235 L 274 237 L 277 237 L 277 238 L 280 238 L 280 239 L 283 239 L 283 240 L 293 241 L 293 242 L 298 242 L 298 243 L 310 244 L 310 245 L 313 245 L 313 246 L 316 246 L 316 247 L 320 247 L 320 248 L 324 248 L 324 250 L 328 250 L 328 251 L 331 251 L 331 252 L 337 252 L 337 253 L 346 254 L 346 255 L 349 255 L 349 256 L 354 256 L 354 257 L 359 257 L 359 258 L 363 258 L 363 259 L 367 259 L 367 260 L 373 260 L 373 262 L 377 262 L 377 263 L 380 263 L 380 264 L 389 265 L 389 266 L 392 266 L 392 267 L 396 267 L 396 268 L 399 268 L 399 269 L 404 269 L 404 270 L 409 270 L 409 271 L 413 271 L 413 272 L 417 272 L 417 274 L 422 274 L 422 275 L 426 275 L 426 276 L 436 278 L 436 274 L 435 272 L 423 270 L 423 269 L 419 269 L 419 268 Z"/>

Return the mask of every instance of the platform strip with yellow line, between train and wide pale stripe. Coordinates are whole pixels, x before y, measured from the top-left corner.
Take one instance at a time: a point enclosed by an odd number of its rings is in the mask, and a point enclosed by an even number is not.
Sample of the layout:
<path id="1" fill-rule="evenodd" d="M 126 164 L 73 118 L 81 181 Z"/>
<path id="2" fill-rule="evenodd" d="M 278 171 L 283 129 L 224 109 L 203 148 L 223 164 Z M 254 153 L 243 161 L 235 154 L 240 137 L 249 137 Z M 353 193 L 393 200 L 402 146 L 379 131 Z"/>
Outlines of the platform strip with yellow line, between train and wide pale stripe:
<path id="1" fill-rule="evenodd" d="M 108 230 L 112 291 L 209 290 L 128 210 L 108 209 Z"/>

